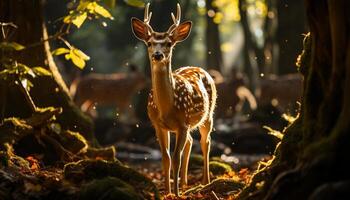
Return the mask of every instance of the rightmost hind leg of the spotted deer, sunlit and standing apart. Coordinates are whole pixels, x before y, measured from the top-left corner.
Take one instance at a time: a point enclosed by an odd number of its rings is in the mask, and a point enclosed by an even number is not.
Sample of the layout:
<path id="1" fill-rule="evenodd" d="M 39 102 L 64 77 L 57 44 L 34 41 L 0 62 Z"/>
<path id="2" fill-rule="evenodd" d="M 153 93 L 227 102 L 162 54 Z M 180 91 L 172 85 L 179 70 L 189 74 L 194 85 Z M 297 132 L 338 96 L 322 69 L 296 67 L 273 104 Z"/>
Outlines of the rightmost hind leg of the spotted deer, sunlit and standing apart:
<path id="1" fill-rule="evenodd" d="M 201 134 L 201 148 L 203 153 L 203 184 L 210 182 L 209 176 L 209 152 L 210 152 L 210 132 L 213 128 L 213 120 L 208 118 L 203 125 L 199 128 Z"/>

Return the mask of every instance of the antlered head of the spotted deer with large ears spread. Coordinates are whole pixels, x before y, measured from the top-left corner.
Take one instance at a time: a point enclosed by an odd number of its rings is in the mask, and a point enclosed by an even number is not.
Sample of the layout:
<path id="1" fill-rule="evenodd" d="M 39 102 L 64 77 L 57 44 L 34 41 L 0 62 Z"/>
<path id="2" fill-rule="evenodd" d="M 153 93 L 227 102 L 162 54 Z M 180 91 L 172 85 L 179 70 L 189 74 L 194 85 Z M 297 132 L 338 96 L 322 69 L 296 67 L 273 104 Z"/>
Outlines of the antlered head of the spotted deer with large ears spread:
<path id="1" fill-rule="evenodd" d="M 146 5 L 143 21 L 134 17 L 131 19 L 133 33 L 136 38 L 147 45 L 149 59 L 152 63 L 170 62 L 173 47 L 176 43 L 184 41 L 188 37 L 192 22 L 186 21 L 180 24 L 181 8 L 177 4 L 176 17 L 171 13 L 174 24 L 166 32 L 156 32 L 149 24 L 152 17 L 152 12 L 149 12 L 149 5 L 149 3 Z"/>

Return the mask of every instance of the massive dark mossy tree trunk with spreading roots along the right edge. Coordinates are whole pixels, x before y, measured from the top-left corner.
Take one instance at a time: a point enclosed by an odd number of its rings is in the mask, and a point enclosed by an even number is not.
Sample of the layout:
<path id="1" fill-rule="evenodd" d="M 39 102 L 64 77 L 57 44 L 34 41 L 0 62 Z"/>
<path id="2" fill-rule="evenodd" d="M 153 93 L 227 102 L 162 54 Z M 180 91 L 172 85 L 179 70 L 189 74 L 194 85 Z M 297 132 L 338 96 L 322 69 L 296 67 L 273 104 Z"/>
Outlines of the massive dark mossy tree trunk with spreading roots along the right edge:
<path id="1" fill-rule="evenodd" d="M 305 77 L 300 116 L 239 199 L 349 195 L 350 2 L 305 0 L 305 6 L 310 36 L 299 62 Z"/>

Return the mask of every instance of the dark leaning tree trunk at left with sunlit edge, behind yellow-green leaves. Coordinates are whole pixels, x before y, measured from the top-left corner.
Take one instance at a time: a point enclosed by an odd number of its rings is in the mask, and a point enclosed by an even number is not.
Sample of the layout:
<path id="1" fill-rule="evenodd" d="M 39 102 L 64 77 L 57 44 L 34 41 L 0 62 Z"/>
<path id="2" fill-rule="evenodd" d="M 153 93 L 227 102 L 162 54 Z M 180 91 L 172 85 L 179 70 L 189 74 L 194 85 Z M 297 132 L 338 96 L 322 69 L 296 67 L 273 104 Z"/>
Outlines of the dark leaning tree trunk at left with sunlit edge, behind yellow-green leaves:
<path id="1" fill-rule="evenodd" d="M 0 22 L 12 22 L 18 26 L 17 29 L 13 30 L 14 33 L 9 38 L 10 41 L 27 46 L 48 37 L 43 22 L 42 6 L 41 1 L 38 0 L 1 0 Z M 57 116 L 62 128 L 78 131 L 88 140 L 94 141 L 92 121 L 82 114 L 71 100 L 67 86 L 50 53 L 49 42 L 43 42 L 16 52 L 14 59 L 29 67 L 41 66 L 52 72 L 52 77 L 38 77 L 33 81 L 34 87 L 30 94 L 36 106 L 62 107 L 62 114 Z M 6 87 L 7 93 L 6 105 L 1 105 L 5 108 L 2 117 L 29 117 L 32 113 L 26 106 L 23 95 L 9 85 L 4 87 Z M 2 92 L 5 91 L 2 90 Z M 4 99 L 0 102 L 3 103 Z"/>

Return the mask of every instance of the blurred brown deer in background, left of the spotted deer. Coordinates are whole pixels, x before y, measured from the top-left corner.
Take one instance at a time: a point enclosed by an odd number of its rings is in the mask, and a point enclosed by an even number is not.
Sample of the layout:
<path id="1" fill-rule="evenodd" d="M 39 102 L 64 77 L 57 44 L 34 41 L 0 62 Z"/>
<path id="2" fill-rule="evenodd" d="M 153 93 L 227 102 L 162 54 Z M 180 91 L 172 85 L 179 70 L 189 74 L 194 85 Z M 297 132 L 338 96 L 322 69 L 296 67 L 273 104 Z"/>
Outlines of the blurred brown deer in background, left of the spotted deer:
<path id="1" fill-rule="evenodd" d="M 120 121 L 136 121 L 130 108 L 132 97 L 147 85 L 147 79 L 135 66 L 130 69 L 128 73 L 90 73 L 75 79 L 70 86 L 74 102 L 92 117 L 97 117 L 96 106 L 116 106 Z"/>

